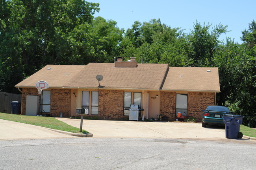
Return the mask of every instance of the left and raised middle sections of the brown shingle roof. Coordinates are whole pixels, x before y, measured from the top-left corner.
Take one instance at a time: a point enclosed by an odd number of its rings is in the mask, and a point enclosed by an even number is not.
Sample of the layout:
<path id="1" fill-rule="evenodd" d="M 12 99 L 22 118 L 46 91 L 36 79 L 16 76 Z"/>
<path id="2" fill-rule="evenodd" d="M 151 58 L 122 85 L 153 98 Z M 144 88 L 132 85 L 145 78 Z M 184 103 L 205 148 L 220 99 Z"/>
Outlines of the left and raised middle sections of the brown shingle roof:
<path id="1" fill-rule="evenodd" d="M 50 88 L 98 88 L 96 75 L 102 75 L 104 88 L 160 90 L 167 69 L 168 64 L 138 64 L 136 68 L 116 68 L 114 63 L 47 65 L 15 87 L 35 87 L 37 81 L 45 80 Z"/>

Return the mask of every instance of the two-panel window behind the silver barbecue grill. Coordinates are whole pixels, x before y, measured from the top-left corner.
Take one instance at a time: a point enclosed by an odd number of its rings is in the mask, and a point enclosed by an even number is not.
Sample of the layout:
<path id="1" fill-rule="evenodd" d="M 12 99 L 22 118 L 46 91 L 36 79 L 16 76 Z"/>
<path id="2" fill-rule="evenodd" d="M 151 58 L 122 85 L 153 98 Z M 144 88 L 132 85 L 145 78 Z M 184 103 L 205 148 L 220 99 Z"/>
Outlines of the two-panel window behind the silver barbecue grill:
<path id="1" fill-rule="evenodd" d="M 141 107 L 141 93 L 124 92 L 124 109 L 130 108 L 131 104 L 139 104 L 139 107 Z M 129 110 L 124 110 L 124 116 L 129 116 L 129 114 L 130 114 Z"/>

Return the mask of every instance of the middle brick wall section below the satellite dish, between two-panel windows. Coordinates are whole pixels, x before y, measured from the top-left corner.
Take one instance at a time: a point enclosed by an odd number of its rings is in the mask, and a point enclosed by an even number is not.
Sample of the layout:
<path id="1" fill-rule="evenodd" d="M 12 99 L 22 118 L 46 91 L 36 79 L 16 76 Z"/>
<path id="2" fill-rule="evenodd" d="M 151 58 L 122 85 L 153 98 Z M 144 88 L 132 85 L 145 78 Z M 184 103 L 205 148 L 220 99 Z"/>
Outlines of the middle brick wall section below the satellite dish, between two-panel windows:
<path id="1" fill-rule="evenodd" d="M 98 117 L 103 120 L 122 120 L 124 91 L 100 90 Z"/>

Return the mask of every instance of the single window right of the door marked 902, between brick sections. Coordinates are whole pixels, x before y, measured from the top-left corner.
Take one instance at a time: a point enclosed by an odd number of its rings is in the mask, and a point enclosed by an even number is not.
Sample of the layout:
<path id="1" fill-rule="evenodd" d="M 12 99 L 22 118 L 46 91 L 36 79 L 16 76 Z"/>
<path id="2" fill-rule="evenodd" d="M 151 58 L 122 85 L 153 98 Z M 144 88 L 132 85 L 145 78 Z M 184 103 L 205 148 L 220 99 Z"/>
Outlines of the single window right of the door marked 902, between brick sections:
<path id="1" fill-rule="evenodd" d="M 178 112 L 187 116 L 187 94 L 176 94 L 176 116 Z"/>

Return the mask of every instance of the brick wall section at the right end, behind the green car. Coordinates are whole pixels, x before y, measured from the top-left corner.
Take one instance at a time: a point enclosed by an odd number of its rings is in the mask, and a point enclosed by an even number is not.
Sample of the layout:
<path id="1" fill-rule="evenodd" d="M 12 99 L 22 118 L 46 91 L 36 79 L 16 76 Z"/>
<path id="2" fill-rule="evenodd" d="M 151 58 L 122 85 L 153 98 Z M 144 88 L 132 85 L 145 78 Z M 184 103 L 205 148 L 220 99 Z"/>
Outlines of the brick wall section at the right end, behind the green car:
<path id="1" fill-rule="evenodd" d="M 202 121 L 202 110 L 207 106 L 214 105 L 214 93 L 188 93 L 187 95 L 187 112 L 189 116 Z"/>

